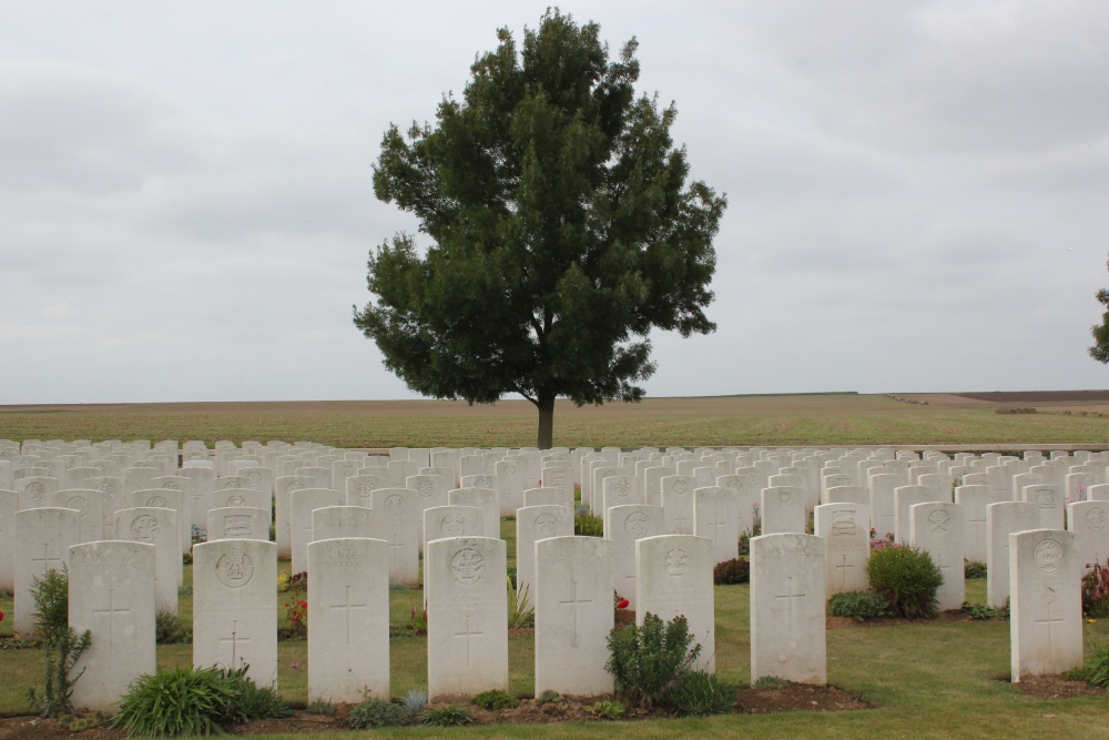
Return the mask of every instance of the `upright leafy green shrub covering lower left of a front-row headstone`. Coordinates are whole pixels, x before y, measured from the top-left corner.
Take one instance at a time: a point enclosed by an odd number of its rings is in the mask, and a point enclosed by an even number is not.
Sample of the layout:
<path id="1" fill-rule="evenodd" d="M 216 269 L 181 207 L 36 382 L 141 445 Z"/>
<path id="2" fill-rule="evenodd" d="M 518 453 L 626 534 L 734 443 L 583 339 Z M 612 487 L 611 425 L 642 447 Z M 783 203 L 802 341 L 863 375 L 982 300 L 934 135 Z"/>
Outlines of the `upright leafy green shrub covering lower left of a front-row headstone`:
<path id="1" fill-rule="evenodd" d="M 609 633 L 609 660 L 604 669 L 612 673 L 617 693 L 629 701 L 651 708 L 662 701 L 671 685 L 691 670 L 701 655 L 693 645 L 685 617 L 663 622 L 648 614 L 643 625 L 629 625 Z"/>

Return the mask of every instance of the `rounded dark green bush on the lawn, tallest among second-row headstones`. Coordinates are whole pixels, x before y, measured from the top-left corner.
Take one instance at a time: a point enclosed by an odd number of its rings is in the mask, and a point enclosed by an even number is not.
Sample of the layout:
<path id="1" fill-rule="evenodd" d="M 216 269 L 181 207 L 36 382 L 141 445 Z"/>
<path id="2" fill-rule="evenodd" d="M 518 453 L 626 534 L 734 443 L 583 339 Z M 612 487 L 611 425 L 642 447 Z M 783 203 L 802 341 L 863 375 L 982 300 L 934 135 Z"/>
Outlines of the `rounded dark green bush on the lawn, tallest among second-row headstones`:
<path id="1" fill-rule="evenodd" d="M 881 547 L 871 551 L 866 564 L 871 589 L 885 597 L 894 616 L 932 619 L 939 601 L 936 594 L 944 574 L 932 556 L 915 547 Z"/>

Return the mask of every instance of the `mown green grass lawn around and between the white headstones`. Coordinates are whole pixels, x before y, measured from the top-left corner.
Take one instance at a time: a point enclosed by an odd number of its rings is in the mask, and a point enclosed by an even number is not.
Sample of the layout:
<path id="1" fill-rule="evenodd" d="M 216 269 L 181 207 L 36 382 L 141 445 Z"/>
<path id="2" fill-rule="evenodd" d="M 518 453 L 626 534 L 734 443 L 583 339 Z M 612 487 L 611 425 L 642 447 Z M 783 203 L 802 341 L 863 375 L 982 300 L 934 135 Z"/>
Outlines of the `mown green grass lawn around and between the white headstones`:
<path id="1" fill-rule="evenodd" d="M 515 521 L 502 523 L 506 539 Z M 509 561 L 515 562 L 509 541 Z M 287 564 L 282 564 L 287 568 Z M 186 586 L 191 582 L 186 568 Z M 967 581 L 967 599 L 985 600 L 985 581 Z M 391 622 L 408 622 L 421 592 L 390 591 Z M 279 595 L 281 599 L 284 595 Z M 716 596 L 716 665 L 739 683 L 750 680 L 749 588 L 720 586 Z M 278 601 L 281 606 L 283 601 Z M 0 599 L 11 611 L 11 599 Z M 181 599 L 182 617 L 192 614 L 192 598 Z M 830 630 L 828 682 L 862 696 L 874 708 L 846 712 L 731 714 L 709 719 L 674 719 L 611 724 L 578 722 L 552 726 L 490 726 L 455 730 L 405 728 L 373 733 L 328 733 L 327 737 L 466 737 L 466 738 L 603 738 L 634 732 L 637 738 L 1109 738 L 1109 697 L 1039 700 L 1008 683 L 1009 632 L 1005 621 L 922 621 L 881 627 Z M 1090 639 L 1105 639 L 1107 626 L 1087 625 Z M 0 636 L 11 635 L 11 620 L 0 622 Z M 426 640 L 390 640 L 393 692 L 403 695 L 427 685 Z M 187 663 L 190 645 L 162 646 L 159 663 Z M 509 640 L 510 688 L 532 695 L 533 642 L 529 636 Z M 294 668 L 294 665 L 297 667 Z M 294 704 L 304 704 L 307 645 L 283 641 L 278 647 L 279 689 Z M 0 714 L 26 714 L 26 691 L 42 682 L 39 650 L 0 651 Z M 286 736 L 258 736 L 284 738 Z M 294 736 L 287 736 L 293 738 Z M 295 736 L 303 738 L 304 736 Z"/>

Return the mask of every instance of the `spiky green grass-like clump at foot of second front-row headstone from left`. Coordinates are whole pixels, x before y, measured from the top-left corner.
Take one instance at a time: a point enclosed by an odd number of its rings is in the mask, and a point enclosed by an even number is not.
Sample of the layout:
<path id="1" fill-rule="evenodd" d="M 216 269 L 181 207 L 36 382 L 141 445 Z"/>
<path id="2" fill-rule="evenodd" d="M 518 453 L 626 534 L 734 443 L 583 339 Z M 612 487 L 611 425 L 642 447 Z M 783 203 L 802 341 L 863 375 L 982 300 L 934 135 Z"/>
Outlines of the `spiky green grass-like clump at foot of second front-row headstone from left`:
<path id="1" fill-rule="evenodd" d="M 140 676 L 111 724 L 147 738 L 222 734 L 224 724 L 291 714 L 281 695 L 273 687 L 258 687 L 246 677 L 247 669 L 189 666 Z"/>

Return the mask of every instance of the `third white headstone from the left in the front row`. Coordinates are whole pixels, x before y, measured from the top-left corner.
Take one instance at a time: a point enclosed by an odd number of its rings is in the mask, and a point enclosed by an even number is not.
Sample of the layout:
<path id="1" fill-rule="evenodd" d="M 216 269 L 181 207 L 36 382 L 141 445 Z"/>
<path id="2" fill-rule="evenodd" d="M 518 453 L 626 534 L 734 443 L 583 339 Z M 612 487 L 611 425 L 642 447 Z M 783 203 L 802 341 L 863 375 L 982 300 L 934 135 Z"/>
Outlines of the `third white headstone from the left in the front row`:
<path id="1" fill-rule="evenodd" d="M 388 558 L 380 539 L 308 545 L 308 701 L 388 701 Z"/>

